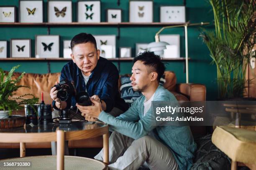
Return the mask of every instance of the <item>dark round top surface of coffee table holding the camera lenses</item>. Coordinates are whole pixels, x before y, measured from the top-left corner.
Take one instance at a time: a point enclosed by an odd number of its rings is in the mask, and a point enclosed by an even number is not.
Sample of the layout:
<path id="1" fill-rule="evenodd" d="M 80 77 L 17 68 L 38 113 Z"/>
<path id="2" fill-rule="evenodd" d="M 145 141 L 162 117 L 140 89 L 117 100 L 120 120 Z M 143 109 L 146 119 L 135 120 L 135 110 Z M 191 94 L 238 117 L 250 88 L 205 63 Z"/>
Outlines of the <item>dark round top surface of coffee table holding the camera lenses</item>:
<path id="1" fill-rule="evenodd" d="M 45 133 L 55 132 L 57 129 L 64 131 L 92 130 L 108 126 L 102 122 L 73 121 L 69 124 L 49 123 L 47 125 L 24 125 L 18 128 L 0 129 L 0 133 Z"/>

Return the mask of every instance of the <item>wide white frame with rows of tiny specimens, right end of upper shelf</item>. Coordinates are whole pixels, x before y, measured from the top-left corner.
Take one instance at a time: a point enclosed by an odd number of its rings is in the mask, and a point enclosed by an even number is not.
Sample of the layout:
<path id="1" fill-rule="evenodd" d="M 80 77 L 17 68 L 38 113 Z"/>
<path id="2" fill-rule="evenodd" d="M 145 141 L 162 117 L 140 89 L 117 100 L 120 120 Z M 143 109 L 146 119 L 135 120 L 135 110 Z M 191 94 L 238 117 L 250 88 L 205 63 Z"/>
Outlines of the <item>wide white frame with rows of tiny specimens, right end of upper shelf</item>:
<path id="1" fill-rule="evenodd" d="M 161 23 L 185 23 L 186 22 L 185 6 L 161 6 L 160 22 Z"/>

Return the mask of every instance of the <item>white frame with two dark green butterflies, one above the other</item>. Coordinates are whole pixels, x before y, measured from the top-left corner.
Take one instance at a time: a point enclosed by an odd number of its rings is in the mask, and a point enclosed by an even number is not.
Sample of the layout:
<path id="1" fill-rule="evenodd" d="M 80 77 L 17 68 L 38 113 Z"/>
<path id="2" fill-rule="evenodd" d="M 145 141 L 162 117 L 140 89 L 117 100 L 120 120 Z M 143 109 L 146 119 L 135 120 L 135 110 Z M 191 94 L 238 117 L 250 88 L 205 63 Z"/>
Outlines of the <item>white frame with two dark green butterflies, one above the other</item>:
<path id="1" fill-rule="evenodd" d="M 100 23 L 100 1 L 78 1 L 77 2 L 78 23 Z"/>

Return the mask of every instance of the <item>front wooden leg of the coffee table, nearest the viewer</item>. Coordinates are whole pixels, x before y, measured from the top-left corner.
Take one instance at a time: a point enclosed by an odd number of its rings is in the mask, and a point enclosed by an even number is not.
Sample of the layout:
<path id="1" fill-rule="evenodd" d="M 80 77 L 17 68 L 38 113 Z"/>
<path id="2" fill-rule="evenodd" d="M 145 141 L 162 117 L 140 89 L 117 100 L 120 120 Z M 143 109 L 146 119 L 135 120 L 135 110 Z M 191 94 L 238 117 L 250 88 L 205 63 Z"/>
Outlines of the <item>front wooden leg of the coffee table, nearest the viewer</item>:
<path id="1" fill-rule="evenodd" d="M 64 170 L 64 131 L 57 130 L 57 170 Z"/>

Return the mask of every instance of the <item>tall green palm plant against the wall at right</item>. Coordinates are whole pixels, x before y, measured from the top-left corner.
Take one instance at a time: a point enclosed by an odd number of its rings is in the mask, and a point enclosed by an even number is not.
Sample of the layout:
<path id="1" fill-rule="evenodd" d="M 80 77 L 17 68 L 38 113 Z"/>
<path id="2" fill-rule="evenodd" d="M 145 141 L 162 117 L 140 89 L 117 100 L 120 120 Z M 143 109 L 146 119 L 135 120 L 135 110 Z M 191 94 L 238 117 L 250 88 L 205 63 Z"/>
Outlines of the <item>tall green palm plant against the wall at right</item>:
<path id="1" fill-rule="evenodd" d="M 246 85 L 246 66 L 256 44 L 255 2 L 253 0 L 209 0 L 215 31 L 200 36 L 217 67 L 218 96 L 242 97 Z M 249 80 L 247 80 L 249 81 Z"/>

